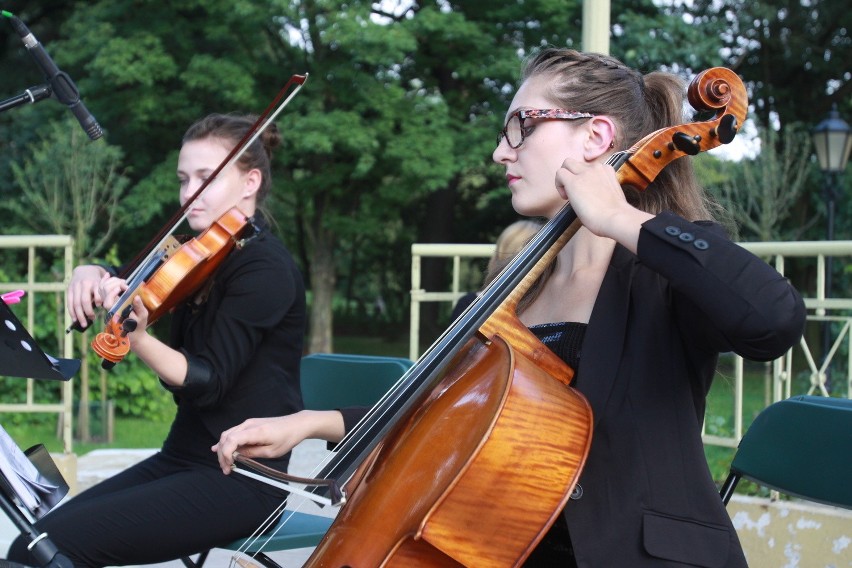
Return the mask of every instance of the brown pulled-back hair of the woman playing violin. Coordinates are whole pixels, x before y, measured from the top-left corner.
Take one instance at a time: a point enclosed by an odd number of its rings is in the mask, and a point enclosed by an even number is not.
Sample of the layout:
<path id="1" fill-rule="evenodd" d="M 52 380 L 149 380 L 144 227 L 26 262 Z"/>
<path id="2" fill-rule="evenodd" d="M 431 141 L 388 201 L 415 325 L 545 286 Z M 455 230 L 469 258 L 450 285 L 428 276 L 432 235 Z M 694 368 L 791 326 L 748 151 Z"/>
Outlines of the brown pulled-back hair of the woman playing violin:
<path id="1" fill-rule="evenodd" d="M 236 146 L 257 121 L 253 115 L 210 114 L 190 126 L 183 135 L 182 143 L 204 138 L 218 138 Z M 258 169 L 261 173 L 260 188 L 257 190 L 257 207 L 266 201 L 272 187 L 271 160 L 272 151 L 281 144 L 281 134 L 274 123 L 252 142 L 237 161 L 241 171 Z"/>

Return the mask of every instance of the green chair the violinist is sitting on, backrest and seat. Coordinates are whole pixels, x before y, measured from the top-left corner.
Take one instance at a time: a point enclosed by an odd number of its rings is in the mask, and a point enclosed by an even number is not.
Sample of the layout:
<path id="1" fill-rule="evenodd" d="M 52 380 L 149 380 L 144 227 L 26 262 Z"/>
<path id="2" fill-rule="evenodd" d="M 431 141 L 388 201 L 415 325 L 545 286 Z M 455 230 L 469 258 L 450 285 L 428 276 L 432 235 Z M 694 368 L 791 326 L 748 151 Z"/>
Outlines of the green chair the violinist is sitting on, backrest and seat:
<path id="1" fill-rule="evenodd" d="M 332 410 L 345 406 L 373 406 L 413 364 L 410 359 L 378 355 L 306 355 L 302 358 L 300 371 L 305 408 Z M 286 522 L 270 531 L 275 536 L 261 537 L 245 549 L 243 547 L 246 547 L 249 538 L 219 548 L 244 550 L 263 566 L 281 568 L 264 552 L 316 546 L 333 520 L 321 515 L 285 510 L 279 523 Z M 264 552 L 259 551 L 260 548 Z M 209 550 L 202 552 L 195 561 L 189 557 L 181 558 L 181 561 L 188 568 L 200 568 L 209 553 Z"/>

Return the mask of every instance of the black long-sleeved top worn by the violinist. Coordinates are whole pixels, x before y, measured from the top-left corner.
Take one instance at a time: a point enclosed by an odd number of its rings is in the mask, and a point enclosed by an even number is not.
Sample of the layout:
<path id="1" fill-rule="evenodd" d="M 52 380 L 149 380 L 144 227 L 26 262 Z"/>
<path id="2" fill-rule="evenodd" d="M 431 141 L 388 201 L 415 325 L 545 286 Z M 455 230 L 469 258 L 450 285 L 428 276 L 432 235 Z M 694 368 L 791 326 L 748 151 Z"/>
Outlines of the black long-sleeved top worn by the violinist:
<path id="1" fill-rule="evenodd" d="M 252 417 L 301 410 L 299 361 L 305 289 L 290 253 L 268 231 L 235 249 L 213 274 L 206 301 L 175 311 L 169 344 L 187 359 L 163 452 L 218 467 L 210 446 Z M 266 461 L 286 470 L 289 454 Z"/>

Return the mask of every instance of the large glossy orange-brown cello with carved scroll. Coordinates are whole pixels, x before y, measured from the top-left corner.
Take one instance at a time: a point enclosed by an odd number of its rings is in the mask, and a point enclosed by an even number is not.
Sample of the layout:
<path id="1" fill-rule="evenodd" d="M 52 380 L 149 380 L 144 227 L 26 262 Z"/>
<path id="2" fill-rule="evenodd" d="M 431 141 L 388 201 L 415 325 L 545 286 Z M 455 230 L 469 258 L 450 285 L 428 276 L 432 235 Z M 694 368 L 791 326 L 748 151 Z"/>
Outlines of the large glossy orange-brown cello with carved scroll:
<path id="1" fill-rule="evenodd" d="M 614 154 L 622 186 L 643 189 L 671 161 L 733 140 L 747 106 L 736 74 L 707 70 L 688 97 L 714 117 Z M 316 477 L 347 481 L 347 500 L 306 566 L 523 563 L 566 505 L 592 438 L 573 371 L 517 315 L 578 229 L 566 205 L 338 445 Z M 483 503 L 498 513 L 482 515 Z"/>

